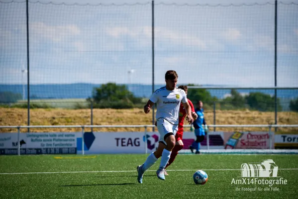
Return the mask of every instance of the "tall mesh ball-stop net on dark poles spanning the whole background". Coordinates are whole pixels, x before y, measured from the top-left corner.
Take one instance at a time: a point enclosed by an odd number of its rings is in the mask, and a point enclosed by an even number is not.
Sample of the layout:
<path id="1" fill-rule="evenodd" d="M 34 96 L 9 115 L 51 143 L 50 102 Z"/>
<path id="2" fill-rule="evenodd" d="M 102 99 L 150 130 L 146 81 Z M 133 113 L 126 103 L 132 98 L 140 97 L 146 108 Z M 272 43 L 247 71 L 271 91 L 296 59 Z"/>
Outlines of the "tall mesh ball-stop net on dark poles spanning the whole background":
<path id="1" fill-rule="evenodd" d="M 277 86 L 298 88 L 298 5 L 279 2 L 277 7 Z M 178 85 L 274 87 L 275 14 L 274 3 L 153 6 L 29 1 L 30 107 L 43 108 L 31 110 L 30 124 L 90 124 L 91 107 L 141 107 L 152 94 L 153 79 L 154 89 L 164 86 L 167 70 L 178 72 Z M 0 125 L 27 124 L 27 73 L 26 2 L 0 1 Z M 93 104 L 94 89 L 108 83 L 106 90 L 124 86 L 119 101 Z M 274 123 L 272 89 L 236 89 L 235 95 L 226 89 L 192 90 L 190 99 L 203 100 L 210 115 L 214 107 L 217 115 L 220 111 L 225 115 L 225 111 L 256 111 L 253 119 L 236 122 Z M 210 97 L 196 98 L 196 92 L 207 92 L 204 95 Z M 237 95 L 242 97 L 240 102 Z M 278 123 L 295 123 L 297 113 L 290 111 L 295 110 L 291 107 L 295 107 L 298 90 L 277 90 L 277 97 L 277 110 L 284 111 L 278 114 Z M 63 109 L 55 109 L 55 114 L 44 110 L 57 107 Z M 268 117 L 257 116 L 258 111 Z M 73 115 L 82 115 L 82 119 Z M 117 123 L 100 118 L 94 124 Z M 224 122 L 218 118 L 216 124 Z M 129 122 L 150 121 L 147 115 L 144 121 Z"/>

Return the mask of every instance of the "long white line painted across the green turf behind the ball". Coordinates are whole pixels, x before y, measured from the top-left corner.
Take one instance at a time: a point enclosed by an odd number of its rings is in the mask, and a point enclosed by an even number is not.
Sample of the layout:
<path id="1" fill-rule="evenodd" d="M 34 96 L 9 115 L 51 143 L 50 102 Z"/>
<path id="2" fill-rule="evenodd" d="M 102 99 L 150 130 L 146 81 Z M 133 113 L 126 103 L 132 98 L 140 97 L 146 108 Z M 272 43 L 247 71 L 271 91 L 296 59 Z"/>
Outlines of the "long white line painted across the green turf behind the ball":
<path id="1" fill-rule="evenodd" d="M 241 169 L 200 169 L 203 171 L 239 171 Z M 279 170 L 298 170 L 298 168 L 279 169 Z M 156 171 L 156 170 L 147 170 Z M 167 171 L 197 171 L 195 169 L 176 169 Z M 136 172 L 132 171 L 61 171 L 61 172 L 30 172 L 30 173 L 0 173 L 0 175 L 21 175 L 21 174 L 72 174 L 72 173 L 124 173 L 124 172 Z"/>

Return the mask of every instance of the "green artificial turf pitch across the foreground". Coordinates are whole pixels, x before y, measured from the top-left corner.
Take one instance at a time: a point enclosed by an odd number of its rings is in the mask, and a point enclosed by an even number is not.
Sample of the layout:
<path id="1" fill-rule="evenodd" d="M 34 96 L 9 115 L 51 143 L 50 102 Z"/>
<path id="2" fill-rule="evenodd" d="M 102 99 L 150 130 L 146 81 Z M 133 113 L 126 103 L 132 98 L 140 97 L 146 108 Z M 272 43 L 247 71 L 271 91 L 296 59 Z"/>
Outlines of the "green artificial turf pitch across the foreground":
<path id="1" fill-rule="evenodd" d="M 170 175 L 165 181 L 156 177 L 158 161 L 145 172 L 143 184 L 138 184 L 136 167 L 147 156 L 0 156 L 0 198 L 298 198 L 298 155 L 178 155 L 167 169 Z M 264 159 L 274 160 L 286 185 L 232 183 L 233 178 L 242 179 L 242 163 L 256 164 Z M 194 183 L 197 170 L 207 173 L 205 185 Z"/>

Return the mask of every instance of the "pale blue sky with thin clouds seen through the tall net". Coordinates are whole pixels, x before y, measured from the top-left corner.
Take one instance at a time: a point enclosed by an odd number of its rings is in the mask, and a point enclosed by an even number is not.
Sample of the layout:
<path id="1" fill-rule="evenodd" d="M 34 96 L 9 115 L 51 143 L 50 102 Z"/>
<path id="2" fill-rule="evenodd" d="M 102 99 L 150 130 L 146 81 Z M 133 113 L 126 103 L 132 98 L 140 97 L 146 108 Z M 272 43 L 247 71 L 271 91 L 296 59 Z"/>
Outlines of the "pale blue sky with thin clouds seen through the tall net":
<path id="1" fill-rule="evenodd" d="M 141 5 L 131 6 L 40 2 L 29 4 L 30 84 L 152 83 L 148 1 L 139 0 Z M 274 1 L 266 5 L 227 7 L 160 2 L 196 3 L 155 1 L 155 84 L 164 83 L 167 70 L 176 70 L 179 84 L 274 86 Z M 211 4 L 241 2 L 224 0 Z M 0 17 L 0 84 L 27 81 L 21 72 L 22 65 L 26 66 L 24 6 L 25 3 L 0 3 L 0 13 L 4 13 Z M 130 70 L 133 73 L 128 73 Z M 277 72 L 278 86 L 298 87 L 298 5 L 295 4 L 279 4 Z"/>

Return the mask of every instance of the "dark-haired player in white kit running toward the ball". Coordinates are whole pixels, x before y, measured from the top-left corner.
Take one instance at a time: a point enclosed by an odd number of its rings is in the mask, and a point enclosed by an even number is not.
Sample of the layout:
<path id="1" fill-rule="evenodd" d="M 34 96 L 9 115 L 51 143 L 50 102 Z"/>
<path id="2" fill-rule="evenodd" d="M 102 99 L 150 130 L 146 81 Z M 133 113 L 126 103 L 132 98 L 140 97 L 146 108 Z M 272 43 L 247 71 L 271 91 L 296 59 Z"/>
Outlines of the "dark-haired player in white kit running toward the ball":
<path id="1" fill-rule="evenodd" d="M 156 171 L 156 174 L 159 179 L 165 180 L 164 170 L 176 143 L 175 134 L 178 131 L 179 108 L 181 102 L 186 109 L 189 123 L 191 124 L 194 122 L 192 109 L 187 100 L 185 91 L 176 87 L 178 81 L 178 74 L 176 71 L 167 71 L 165 79 L 166 86 L 156 90 L 144 106 L 144 112 L 147 114 L 154 103 L 157 104 L 156 120 L 160 139 L 157 150 L 147 157 L 144 164 L 137 167 L 139 183 L 143 183 L 144 172 L 160 157 L 162 157 L 160 167 Z"/>

